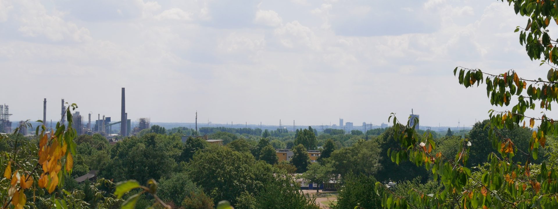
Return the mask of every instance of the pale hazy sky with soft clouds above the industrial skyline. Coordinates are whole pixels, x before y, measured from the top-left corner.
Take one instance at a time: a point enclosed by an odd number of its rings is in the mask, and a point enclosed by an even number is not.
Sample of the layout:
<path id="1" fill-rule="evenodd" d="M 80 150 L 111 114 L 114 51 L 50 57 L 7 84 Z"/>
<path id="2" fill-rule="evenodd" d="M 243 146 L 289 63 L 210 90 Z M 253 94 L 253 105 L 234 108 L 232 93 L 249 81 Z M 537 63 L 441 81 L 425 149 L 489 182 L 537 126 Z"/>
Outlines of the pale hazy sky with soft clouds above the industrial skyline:
<path id="1" fill-rule="evenodd" d="M 422 126 L 488 118 L 456 66 L 545 77 L 501 1 L 0 0 L 0 103 L 60 119 L 60 99 L 156 122 Z M 555 27 L 555 26 L 554 26 Z M 538 112 L 537 112 L 538 113 Z"/>

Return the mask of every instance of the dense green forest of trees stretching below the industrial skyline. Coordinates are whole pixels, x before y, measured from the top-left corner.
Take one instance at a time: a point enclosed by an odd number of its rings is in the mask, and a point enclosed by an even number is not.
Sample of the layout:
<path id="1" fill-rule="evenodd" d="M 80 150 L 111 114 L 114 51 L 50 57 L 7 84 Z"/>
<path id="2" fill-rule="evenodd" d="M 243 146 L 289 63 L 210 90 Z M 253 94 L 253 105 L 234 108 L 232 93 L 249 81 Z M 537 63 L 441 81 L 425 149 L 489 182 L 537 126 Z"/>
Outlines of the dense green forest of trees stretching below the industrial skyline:
<path id="1" fill-rule="evenodd" d="M 492 152 L 490 143 L 485 140 L 489 130 L 484 127 L 489 123 L 489 120 L 480 121 L 467 134 L 472 147 L 478 147 L 469 153 L 467 163 L 470 166 L 487 162 L 485 156 Z M 236 208 L 269 208 L 277 204 L 278 206 L 273 207 L 282 208 L 288 205 L 318 208 L 314 198 L 302 194 L 296 184 L 284 186 L 285 182 L 292 183 L 292 178 L 287 178 L 289 173 L 303 173 L 304 178 L 317 183 L 329 181 L 340 174 L 339 181 L 343 182 L 344 189 L 339 191 L 339 201 L 334 208 L 353 208 L 359 204 L 364 208 L 381 205 L 381 196 L 374 192 L 375 183 L 378 181 L 393 181 L 399 185 L 383 190 L 380 188 L 380 195 L 392 192 L 405 198 L 410 197 L 405 191 L 409 186 L 420 188 L 419 191 L 435 191 L 443 187 L 439 181 L 432 178 L 431 172 L 417 167 L 416 163 L 401 161 L 397 164 L 386 156 L 388 150 L 398 144 L 394 138 L 397 137 L 396 128 L 381 129 L 382 133 L 379 135 L 366 135 L 363 132 L 316 135 L 315 129 L 311 127 L 285 133 L 287 135 L 281 138 L 272 137 L 271 134 L 263 137 L 266 132 L 270 133 L 267 130 L 262 132 L 261 136 L 247 136 L 238 132 L 210 134 L 210 138 L 223 139 L 224 146 L 209 144 L 201 138 L 189 138 L 182 143 L 182 133 L 191 132 L 188 129 L 166 130 L 155 127 L 148 130 L 141 136 L 126 137 L 116 144 L 109 144 L 107 139 L 99 134 L 79 135 L 73 138 L 71 142 L 75 143 L 75 154 L 71 154 L 71 173 L 68 171 L 59 174 L 59 179 L 63 181 L 59 180 L 57 186 L 45 186 L 47 189 L 44 191 L 39 189 L 41 192 L 35 192 L 33 207 L 49 208 L 56 205 L 56 201 L 61 203 L 64 200 L 66 203 L 75 201 L 74 205 L 81 204 L 84 208 L 117 208 L 122 203 L 133 200 L 137 208 L 145 208 L 161 200 L 161 205 L 176 208 L 214 208 L 220 201 L 227 200 Z M 59 132 L 66 135 L 65 133 L 71 131 L 70 128 L 65 132 Z M 529 127 L 502 130 L 502 134 L 523 138 L 526 142 L 531 138 L 531 133 Z M 427 137 L 420 134 L 416 134 L 416 137 L 417 142 L 427 140 Z M 8 172 L 9 166 L 9 172 L 16 172 L 17 169 L 17 172 L 21 172 L 20 176 L 30 172 L 30 176 L 34 175 L 37 178 L 31 182 L 32 186 L 22 188 L 41 187 L 37 184 L 41 174 L 31 172 L 33 161 L 23 163 L 23 158 L 40 159 L 39 153 L 33 148 L 41 144 L 40 140 L 40 133 L 37 137 L 8 134 L 0 140 L 0 151 L 6 153 L 2 157 L 4 163 L 0 169 Z M 431 140 L 436 143 L 432 153 L 450 155 L 459 151 L 463 138 L 446 134 Z M 517 141 L 518 148 L 527 148 L 528 144 Z M 547 144 L 551 147 L 557 146 L 551 137 L 547 139 Z M 278 162 L 275 149 L 287 146 L 294 152 L 292 160 Z M 307 150 L 318 147 L 321 150 L 318 163 L 310 163 Z M 16 152 L 19 154 L 15 155 Z M 546 149 L 541 148 L 538 152 L 541 157 L 531 162 L 555 164 L 558 159 L 556 154 L 546 154 Z M 39 157 L 33 157 L 35 155 Z M 68 162 L 68 157 L 57 158 L 62 165 L 68 166 L 68 163 L 63 163 L 64 159 Z M 526 160 L 521 156 L 517 156 L 517 159 Z M 99 171 L 98 181 L 75 182 L 75 177 L 91 170 Z M 6 176 L 13 179 L 7 173 Z M 116 192 L 116 183 L 130 179 L 146 185 L 151 181 L 158 182 L 158 188 L 156 192 L 136 189 L 122 194 L 121 197 L 113 195 Z M 11 187 L 10 182 L 1 183 L 6 186 L 4 188 Z M 18 187 L 17 185 L 15 187 Z M 53 193 L 55 195 L 51 196 Z M 82 193 L 87 198 L 81 198 Z M 31 190 L 23 194 L 26 197 L 33 196 Z M 7 201 L 8 197 L 4 196 L 3 200 Z"/>

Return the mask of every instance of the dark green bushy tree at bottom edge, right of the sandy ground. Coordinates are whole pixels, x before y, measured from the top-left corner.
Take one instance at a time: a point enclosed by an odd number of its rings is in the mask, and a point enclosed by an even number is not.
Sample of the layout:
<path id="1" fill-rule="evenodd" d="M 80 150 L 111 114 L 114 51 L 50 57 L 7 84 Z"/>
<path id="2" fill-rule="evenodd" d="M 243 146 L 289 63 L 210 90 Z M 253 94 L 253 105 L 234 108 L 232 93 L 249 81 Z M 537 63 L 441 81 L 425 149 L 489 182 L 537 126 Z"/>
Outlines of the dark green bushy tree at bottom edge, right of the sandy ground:
<path id="1" fill-rule="evenodd" d="M 381 208 L 382 197 L 374 192 L 376 182 L 373 176 L 347 174 L 343 177 L 343 189 L 339 191 L 337 203 L 332 208 Z"/>

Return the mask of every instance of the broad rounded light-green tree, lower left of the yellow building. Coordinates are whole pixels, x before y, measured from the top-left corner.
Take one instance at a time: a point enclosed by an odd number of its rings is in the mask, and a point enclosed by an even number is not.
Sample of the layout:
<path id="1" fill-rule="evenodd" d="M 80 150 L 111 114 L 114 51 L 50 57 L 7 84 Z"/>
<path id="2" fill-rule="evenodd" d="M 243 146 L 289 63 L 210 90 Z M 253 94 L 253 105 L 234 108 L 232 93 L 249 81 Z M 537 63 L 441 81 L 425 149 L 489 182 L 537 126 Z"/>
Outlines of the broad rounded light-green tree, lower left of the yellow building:
<path id="1" fill-rule="evenodd" d="M 196 153 L 188 167 L 188 175 L 211 198 L 229 200 L 233 205 L 242 192 L 256 195 L 273 179 L 270 164 L 223 146 L 210 146 Z"/>

